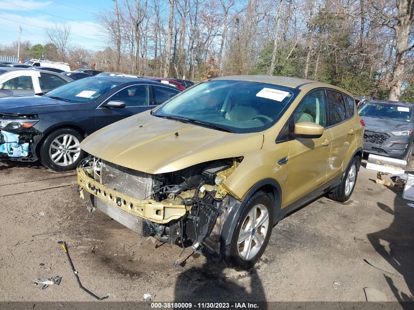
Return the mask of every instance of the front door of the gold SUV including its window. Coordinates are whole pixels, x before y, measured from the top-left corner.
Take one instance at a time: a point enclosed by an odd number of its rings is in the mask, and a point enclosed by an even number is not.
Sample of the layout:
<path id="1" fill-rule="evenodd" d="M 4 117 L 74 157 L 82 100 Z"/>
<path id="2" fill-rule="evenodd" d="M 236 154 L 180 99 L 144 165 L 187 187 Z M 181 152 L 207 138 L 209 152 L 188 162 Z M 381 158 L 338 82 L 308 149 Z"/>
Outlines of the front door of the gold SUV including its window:
<path id="1" fill-rule="evenodd" d="M 327 126 L 324 90 L 306 95 L 293 114 L 294 123 L 309 121 Z M 288 180 L 283 207 L 312 199 L 314 191 L 326 181 L 331 153 L 332 132 L 325 128 L 315 139 L 296 138 L 288 142 Z M 309 199 L 308 199 L 309 198 Z M 299 203 L 301 204 L 301 203 Z"/>

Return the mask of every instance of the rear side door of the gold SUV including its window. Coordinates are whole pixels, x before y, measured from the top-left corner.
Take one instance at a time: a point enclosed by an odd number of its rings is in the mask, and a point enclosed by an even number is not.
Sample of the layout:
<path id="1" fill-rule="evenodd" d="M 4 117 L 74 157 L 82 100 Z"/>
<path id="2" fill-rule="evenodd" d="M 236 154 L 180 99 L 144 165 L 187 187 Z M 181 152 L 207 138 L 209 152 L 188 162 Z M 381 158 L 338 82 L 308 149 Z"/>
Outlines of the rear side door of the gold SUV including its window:
<path id="1" fill-rule="evenodd" d="M 332 131 L 330 168 L 327 178 L 331 179 L 348 165 L 345 158 L 355 139 L 356 126 L 350 120 L 350 110 L 345 106 L 342 93 L 327 89 L 329 128 Z M 352 111 L 353 113 L 353 111 Z"/>

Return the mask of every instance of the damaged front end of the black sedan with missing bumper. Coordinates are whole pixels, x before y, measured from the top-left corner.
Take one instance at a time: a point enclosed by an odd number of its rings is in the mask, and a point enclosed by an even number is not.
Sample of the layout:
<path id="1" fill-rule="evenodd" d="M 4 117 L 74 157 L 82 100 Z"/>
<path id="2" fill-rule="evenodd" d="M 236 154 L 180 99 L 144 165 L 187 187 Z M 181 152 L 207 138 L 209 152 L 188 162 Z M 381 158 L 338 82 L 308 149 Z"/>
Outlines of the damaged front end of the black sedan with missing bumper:
<path id="1" fill-rule="evenodd" d="M 38 122 L 37 115 L 0 114 L 0 158 L 37 160 L 32 143 L 41 135 L 33 128 Z"/>

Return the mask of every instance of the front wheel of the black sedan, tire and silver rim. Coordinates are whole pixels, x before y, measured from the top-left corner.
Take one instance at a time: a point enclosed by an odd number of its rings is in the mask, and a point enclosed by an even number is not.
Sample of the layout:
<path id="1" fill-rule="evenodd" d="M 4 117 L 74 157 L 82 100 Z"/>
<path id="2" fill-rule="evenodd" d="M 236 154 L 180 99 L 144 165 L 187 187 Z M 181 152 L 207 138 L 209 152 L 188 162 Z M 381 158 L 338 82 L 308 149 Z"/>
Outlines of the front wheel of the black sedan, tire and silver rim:
<path id="1" fill-rule="evenodd" d="M 73 170 L 85 157 L 85 152 L 79 148 L 82 140 L 83 136 L 72 128 L 53 131 L 40 146 L 40 162 L 54 171 Z"/>

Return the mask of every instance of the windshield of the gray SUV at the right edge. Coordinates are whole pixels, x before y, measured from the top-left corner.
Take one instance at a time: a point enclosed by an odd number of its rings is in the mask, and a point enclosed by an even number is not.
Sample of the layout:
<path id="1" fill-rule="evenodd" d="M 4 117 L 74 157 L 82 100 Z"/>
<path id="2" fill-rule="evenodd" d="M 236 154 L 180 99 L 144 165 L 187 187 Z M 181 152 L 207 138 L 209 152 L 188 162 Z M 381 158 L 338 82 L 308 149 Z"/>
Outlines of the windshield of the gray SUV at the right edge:
<path id="1" fill-rule="evenodd" d="M 359 110 L 360 116 L 378 119 L 394 119 L 411 121 L 413 109 L 407 106 L 398 106 L 388 103 L 369 102 Z"/>

